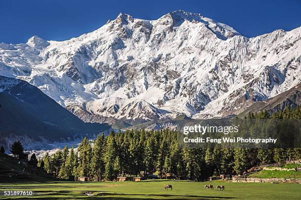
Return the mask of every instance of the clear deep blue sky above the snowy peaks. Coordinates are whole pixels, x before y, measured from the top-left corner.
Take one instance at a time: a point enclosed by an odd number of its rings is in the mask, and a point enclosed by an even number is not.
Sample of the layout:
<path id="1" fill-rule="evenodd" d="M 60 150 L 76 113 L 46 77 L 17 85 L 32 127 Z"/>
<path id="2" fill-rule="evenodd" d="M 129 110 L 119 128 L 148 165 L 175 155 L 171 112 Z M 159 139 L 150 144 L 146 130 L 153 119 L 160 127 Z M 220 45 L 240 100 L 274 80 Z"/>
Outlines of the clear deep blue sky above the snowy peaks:
<path id="1" fill-rule="evenodd" d="M 301 0 L 0 0 L 0 42 L 26 42 L 32 35 L 65 40 L 120 12 L 157 19 L 178 9 L 201 13 L 247 37 L 301 26 Z"/>

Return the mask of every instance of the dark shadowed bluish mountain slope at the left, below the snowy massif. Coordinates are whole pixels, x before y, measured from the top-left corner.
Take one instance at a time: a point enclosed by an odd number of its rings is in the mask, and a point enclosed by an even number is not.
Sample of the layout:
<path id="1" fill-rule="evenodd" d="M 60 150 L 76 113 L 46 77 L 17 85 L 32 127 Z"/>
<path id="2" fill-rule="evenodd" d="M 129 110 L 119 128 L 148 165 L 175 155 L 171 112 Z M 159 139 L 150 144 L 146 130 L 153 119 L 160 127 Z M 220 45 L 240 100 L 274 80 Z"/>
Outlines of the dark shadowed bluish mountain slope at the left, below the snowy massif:
<path id="1" fill-rule="evenodd" d="M 84 123 L 26 81 L 0 76 L 0 145 L 74 139 L 108 130 Z"/>

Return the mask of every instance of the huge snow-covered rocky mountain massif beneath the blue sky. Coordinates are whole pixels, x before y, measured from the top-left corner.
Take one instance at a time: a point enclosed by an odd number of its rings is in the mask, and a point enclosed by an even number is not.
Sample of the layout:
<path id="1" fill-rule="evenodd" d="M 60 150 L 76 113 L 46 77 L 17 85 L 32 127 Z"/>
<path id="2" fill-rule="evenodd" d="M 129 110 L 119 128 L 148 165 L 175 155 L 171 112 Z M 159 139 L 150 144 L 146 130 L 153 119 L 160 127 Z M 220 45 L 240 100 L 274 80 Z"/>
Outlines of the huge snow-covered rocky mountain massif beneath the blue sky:
<path id="1" fill-rule="evenodd" d="M 301 27 L 247 38 L 181 10 L 157 20 L 120 13 L 66 41 L 0 44 L 0 75 L 73 113 L 138 121 L 237 114 L 300 83 L 300 63 Z"/>

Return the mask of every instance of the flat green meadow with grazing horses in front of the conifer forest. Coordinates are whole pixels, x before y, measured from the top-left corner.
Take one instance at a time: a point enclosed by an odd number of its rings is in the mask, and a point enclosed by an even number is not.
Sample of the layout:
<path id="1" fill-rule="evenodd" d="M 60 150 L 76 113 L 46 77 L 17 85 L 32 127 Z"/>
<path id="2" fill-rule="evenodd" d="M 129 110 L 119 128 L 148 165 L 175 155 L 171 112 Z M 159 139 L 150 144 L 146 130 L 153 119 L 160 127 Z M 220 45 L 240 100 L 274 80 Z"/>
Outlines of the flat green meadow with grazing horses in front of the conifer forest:
<path id="1" fill-rule="evenodd" d="M 164 191 L 164 184 L 171 184 L 173 190 Z M 204 189 L 206 184 L 214 191 Z M 216 190 L 224 185 L 225 191 Z M 0 183 L 0 191 L 33 190 L 33 197 L 0 197 L 0 199 L 173 199 L 173 200 L 300 200 L 301 184 L 232 183 L 226 181 L 191 182 L 151 180 L 141 182 L 19 182 Z M 87 196 L 85 193 L 94 194 Z"/>

